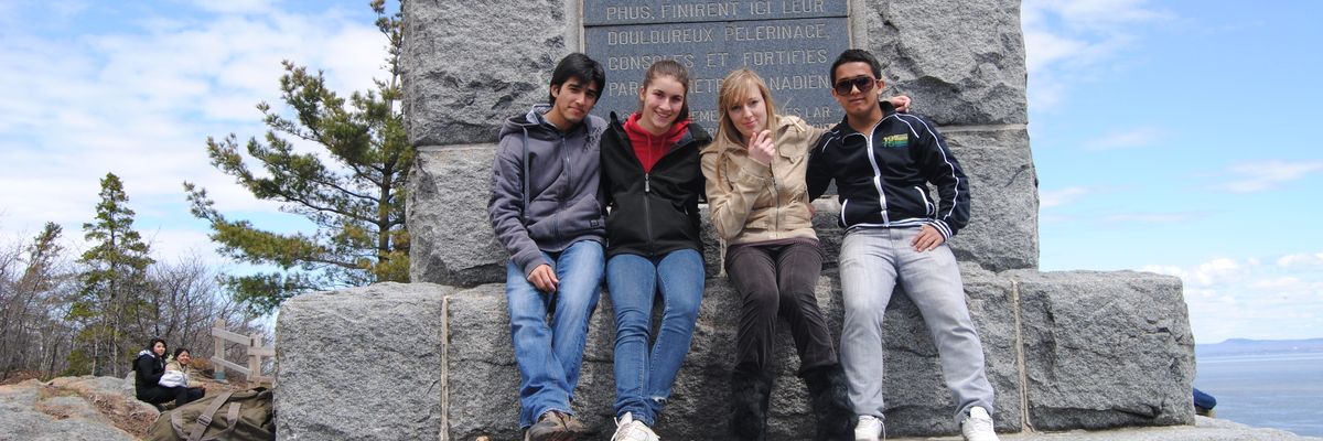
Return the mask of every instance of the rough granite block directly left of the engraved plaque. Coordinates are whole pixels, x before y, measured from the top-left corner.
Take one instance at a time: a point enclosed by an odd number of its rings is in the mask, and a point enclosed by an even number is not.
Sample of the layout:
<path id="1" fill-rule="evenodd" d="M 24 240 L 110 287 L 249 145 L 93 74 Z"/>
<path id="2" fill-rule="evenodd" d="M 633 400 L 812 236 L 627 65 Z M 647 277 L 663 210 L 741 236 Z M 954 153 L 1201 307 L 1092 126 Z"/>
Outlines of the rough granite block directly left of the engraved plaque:
<path id="1" fill-rule="evenodd" d="M 414 146 L 495 142 L 501 121 L 546 102 L 556 62 L 578 50 L 574 0 L 409 0 L 402 8 L 401 79 Z"/>

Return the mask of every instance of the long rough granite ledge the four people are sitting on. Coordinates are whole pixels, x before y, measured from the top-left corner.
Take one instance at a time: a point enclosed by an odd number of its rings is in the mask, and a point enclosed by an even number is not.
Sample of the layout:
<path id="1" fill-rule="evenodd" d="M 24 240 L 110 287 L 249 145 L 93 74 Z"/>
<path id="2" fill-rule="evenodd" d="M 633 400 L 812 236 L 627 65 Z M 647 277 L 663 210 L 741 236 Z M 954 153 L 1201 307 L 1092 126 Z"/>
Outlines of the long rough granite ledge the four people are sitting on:
<path id="1" fill-rule="evenodd" d="M 960 269 L 988 380 L 998 392 L 995 421 L 1002 430 L 1029 430 L 1025 418 L 1037 430 L 1195 421 L 1187 405 L 1193 346 L 1177 279 L 1134 271 L 992 273 L 972 262 Z M 823 273 L 818 301 L 839 339 L 835 270 Z M 656 425 L 662 437 L 724 438 L 737 314 L 737 294 L 726 278 L 709 278 L 689 356 Z M 614 416 L 614 328 L 610 294 L 603 293 L 590 323 L 574 411 L 590 428 L 607 433 Z M 414 424 L 418 433 L 443 426 L 448 440 L 519 437 L 519 372 L 503 285 L 462 290 L 384 283 L 307 294 L 284 306 L 277 330 L 282 429 L 315 426 L 319 438 L 352 440 L 356 433 Z M 954 403 L 937 348 L 901 290 L 893 294 L 884 332 L 888 433 L 955 434 Z M 437 340 L 429 343 L 427 335 Z M 810 438 L 811 409 L 794 376 L 798 358 L 785 328 L 778 331 L 777 351 L 769 438 Z M 382 366 L 386 371 L 377 372 Z M 1020 381 L 1021 371 L 1028 383 Z M 418 396 L 392 396 L 389 405 L 376 401 L 385 388 Z M 442 388 L 445 396 L 434 392 Z M 299 408 L 314 404 L 344 411 L 321 411 L 314 420 L 316 415 Z"/>

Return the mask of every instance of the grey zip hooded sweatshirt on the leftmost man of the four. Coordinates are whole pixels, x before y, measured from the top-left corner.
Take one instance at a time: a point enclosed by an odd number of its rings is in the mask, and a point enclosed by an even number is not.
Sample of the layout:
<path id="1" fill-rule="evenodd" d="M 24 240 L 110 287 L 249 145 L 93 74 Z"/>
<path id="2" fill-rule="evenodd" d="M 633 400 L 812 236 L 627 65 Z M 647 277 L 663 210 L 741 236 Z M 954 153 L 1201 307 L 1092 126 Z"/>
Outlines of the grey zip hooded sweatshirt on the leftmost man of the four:
<path id="1" fill-rule="evenodd" d="M 496 238 L 525 277 L 550 264 L 542 252 L 562 252 L 583 240 L 606 244 L 598 191 L 598 142 L 606 121 L 589 115 L 561 132 L 542 118 L 550 109 L 534 105 L 528 114 L 507 119 L 492 162 L 487 213 Z"/>

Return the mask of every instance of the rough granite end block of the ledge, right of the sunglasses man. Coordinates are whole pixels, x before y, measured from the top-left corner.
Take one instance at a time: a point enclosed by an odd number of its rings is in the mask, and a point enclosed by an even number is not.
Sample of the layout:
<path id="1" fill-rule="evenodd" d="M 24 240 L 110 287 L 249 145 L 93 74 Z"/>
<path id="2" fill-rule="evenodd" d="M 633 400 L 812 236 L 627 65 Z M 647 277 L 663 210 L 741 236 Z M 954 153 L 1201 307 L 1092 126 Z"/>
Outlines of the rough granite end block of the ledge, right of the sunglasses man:
<path id="1" fill-rule="evenodd" d="M 1023 309 L 1039 430 L 1195 422 L 1195 340 L 1180 279 L 1136 271 L 1007 271 Z"/>

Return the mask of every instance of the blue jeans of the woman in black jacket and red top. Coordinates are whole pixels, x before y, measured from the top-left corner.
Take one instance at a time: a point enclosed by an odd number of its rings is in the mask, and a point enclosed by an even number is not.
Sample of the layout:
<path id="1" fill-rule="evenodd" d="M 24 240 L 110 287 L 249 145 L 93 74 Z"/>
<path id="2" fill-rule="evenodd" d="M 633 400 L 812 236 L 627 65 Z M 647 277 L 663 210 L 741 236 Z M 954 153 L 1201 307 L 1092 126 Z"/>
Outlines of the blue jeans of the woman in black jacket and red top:
<path id="1" fill-rule="evenodd" d="M 703 302 L 703 256 L 683 249 L 659 257 L 620 254 L 606 262 L 615 307 L 615 415 L 631 412 L 654 425 L 693 340 Z M 652 302 L 662 295 L 662 324 L 652 336 Z"/>

